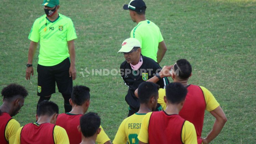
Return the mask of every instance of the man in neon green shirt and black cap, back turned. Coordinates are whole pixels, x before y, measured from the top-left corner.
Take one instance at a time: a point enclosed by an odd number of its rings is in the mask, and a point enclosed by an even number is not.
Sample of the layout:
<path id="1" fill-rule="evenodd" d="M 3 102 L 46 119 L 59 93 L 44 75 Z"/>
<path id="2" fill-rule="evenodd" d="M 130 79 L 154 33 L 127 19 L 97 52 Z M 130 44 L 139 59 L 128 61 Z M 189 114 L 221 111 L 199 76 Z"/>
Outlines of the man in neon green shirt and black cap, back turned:
<path id="1" fill-rule="evenodd" d="M 130 35 L 140 41 L 142 55 L 160 63 L 167 48 L 158 26 L 145 17 L 145 2 L 143 0 L 131 0 L 123 8 L 130 11 L 132 21 L 137 23 Z"/>

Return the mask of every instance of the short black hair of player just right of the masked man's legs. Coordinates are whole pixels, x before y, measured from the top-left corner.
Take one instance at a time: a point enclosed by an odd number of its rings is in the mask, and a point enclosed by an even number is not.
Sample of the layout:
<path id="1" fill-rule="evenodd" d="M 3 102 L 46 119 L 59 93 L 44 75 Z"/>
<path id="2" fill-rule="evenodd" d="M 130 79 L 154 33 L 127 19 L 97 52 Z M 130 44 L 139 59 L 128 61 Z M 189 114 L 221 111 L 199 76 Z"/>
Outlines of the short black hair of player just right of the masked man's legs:
<path id="1" fill-rule="evenodd" d="M 73 87 L 71 99 L 76 105 L 83 105 L 87 100 L 90 100 L 90 89 L 87 86 L 76 85 Z"/>

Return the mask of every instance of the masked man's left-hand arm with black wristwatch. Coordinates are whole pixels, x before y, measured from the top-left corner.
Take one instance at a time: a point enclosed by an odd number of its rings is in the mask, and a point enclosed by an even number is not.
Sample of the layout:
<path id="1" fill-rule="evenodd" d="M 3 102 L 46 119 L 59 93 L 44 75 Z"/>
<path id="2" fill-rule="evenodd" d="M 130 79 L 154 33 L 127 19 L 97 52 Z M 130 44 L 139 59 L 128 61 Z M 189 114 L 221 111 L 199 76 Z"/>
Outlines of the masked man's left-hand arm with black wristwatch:
<path id="1" fill-rule="evenodd" d="M 28 50 L 28 64 L 32 64 L 36 49 L 37 49 L 37 43 L 31 41 L 29 50 Z M 27 67 L 27 69 L 26 69 L 26 80 L 28 80 L 28 79 L 30 80 L 30 74 L 32 74 L 32 76 L 34 76 L 34 69 L 32 66 Z"/>

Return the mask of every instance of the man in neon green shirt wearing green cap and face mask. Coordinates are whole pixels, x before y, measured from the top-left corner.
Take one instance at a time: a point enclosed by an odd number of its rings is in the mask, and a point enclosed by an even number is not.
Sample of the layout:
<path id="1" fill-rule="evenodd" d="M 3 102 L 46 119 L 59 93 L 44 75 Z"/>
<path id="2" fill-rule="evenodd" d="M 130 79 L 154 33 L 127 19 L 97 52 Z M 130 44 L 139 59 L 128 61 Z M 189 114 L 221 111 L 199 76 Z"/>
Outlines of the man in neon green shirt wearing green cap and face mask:
<path id="1" fill-rule="evenodd" d="M 34 73 L 32 61 L 34 52 L 40 42 L 38 72 L 38 104 L 49 100 L 55 93 L 55 82 L 64 98 L 65 112 L 71 111 L 69 99 L 73 82 L 76 78 L 75 45 L 77 38 L 73 22 L 70 18 L 59 14 L 59 0 L 44 0 L 45 15 L 34 21 L 28 39 L 31 40 L 26 79 Z"/>

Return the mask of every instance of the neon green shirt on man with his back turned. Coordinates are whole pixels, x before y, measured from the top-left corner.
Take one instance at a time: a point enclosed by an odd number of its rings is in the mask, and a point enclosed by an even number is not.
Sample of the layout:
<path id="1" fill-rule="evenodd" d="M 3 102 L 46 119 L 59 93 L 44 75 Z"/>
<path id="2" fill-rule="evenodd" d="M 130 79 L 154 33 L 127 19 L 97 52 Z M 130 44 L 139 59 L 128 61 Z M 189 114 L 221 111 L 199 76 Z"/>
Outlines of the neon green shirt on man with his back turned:
<path id="1" fill-rule="evenodd" d="M 132 29 L 131 37 L 140 41 L 142 55 L 157 62 L 158 44 L 163 41 L 163 37 L 160 29 L 154 22 L 150 20 L 140 21 Z"/>

